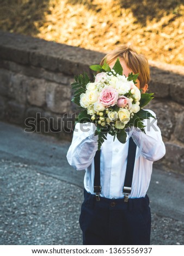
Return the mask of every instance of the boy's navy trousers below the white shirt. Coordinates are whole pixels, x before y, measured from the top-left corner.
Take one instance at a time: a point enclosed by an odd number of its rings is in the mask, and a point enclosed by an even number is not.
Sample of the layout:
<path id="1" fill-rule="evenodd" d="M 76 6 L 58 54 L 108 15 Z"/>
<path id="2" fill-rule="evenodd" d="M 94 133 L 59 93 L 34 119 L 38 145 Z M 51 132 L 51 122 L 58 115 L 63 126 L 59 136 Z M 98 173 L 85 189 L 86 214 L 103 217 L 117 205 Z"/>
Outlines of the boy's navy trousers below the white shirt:
<path id="1" fill-rule="evenodd" d="M 151 212 L 149 197 L 108 199 L 84 188 L 79 225 L 83 245 L 150 245 Z"/>

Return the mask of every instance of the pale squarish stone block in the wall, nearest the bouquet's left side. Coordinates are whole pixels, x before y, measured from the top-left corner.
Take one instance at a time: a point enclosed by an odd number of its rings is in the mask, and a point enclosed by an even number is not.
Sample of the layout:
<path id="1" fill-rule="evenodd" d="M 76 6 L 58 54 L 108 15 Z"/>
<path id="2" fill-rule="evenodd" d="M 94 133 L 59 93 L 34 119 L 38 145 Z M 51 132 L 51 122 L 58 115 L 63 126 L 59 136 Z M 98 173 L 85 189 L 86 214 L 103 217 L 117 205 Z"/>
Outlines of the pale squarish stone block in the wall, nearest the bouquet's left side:
<path id="1" fill-rule="evenodd" d="M 46 90 L 48 110 L 55 113 L 66 113 L 70 109 L 70 87 L 57 83 L 48 83 Z"/>

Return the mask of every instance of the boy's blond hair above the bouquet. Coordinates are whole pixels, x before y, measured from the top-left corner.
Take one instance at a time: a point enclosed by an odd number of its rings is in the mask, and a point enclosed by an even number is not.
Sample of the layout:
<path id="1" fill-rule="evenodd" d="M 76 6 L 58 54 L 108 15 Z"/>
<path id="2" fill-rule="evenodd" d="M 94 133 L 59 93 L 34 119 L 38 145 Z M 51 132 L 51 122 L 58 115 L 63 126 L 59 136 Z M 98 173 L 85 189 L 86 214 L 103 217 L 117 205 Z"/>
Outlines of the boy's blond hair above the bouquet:
<path id="1" fill-rule="evenodd" d="M 105 59 L 108 64 L 111 64 L 111 62 L 118 57 L 125 60 L 127 67 L 131 69 L 134 74 L 139 73 L 138 80 L 140 81 L 140 88 L 143 88 L 146 83 L 149 83 L 150 68 L 148 59 L 143 54 L 138 54 L 131 46 L 122 45 L 115 48 L 115 50 L 103 57 L 100 65 L 103 65 Z"/>

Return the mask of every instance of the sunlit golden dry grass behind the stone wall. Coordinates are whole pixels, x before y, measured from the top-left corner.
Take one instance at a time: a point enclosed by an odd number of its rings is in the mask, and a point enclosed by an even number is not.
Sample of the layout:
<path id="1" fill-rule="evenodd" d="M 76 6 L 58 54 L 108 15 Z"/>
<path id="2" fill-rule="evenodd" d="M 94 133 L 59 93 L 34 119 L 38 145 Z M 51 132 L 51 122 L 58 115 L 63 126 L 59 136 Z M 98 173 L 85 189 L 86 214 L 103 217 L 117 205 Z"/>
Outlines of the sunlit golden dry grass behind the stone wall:
<path id="1" fill-rule="evenodd" d="M 0 28 L 101 52 L 131 42 L 150 60 L 183 64 L 181 0 L 0 0 Z"/>

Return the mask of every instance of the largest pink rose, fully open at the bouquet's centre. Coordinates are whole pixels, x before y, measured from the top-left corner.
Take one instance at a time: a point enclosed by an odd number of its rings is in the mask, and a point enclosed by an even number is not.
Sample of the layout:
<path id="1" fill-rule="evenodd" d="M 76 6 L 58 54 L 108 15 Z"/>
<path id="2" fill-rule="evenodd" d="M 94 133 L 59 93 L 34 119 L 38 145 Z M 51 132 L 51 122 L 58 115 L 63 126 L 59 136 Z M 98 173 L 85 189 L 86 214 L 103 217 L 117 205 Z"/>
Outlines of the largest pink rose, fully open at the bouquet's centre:
<path id="1" fill-rule="evenodd" d="M 114 106 L 118 100 L 118 92 L 112 87 L 103 88 L 99 100 L 106 107 Z"/>

